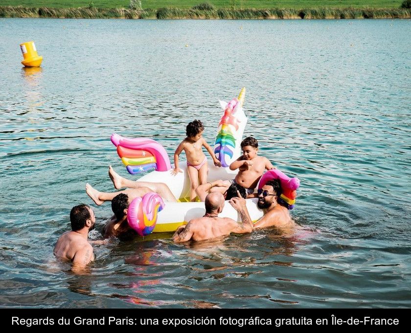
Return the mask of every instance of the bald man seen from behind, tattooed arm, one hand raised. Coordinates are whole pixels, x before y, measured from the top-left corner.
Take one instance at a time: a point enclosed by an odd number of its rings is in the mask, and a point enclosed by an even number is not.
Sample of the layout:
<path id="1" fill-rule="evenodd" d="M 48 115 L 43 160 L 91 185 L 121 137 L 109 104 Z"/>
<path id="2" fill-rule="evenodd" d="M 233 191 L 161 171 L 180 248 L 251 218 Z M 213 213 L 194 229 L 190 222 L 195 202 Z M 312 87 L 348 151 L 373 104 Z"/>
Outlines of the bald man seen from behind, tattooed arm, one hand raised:
<path id="1" fill-rule="evenodd" d="M 231 198 L 230 204 L 240 214 L 241 223 L 229 217 L 218 217 L 224 208 L 224 196 L 220 192 L 212 192 L 206 196 L 206 214 L 192 219 L 185 226 L 180 226 L 173 236 L 174 242 L 183 243 L 191 239 L 201 241 L 228 236 L 230 233 L 250 233 L 252 221 L 247 211 L 246 200 L 241 198 L 238 192 L 238 197 Z"/>

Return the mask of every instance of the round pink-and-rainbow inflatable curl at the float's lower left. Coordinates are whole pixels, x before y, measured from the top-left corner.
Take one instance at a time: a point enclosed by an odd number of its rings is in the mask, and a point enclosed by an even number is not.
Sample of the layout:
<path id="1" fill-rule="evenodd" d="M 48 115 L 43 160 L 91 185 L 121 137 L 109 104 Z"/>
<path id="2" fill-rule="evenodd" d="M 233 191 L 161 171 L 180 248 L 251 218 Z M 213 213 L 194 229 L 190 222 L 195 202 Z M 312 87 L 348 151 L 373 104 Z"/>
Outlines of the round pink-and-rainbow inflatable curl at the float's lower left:
<path id="1" fill-rule="evenodd" d="M 142 198 L 137 197 L 127 210 L 129 226 L 140 236 L 151 234 L 157 223 L 157 213 L 163 208 L 164 202 L 157 193 L 149 192 Z"/>

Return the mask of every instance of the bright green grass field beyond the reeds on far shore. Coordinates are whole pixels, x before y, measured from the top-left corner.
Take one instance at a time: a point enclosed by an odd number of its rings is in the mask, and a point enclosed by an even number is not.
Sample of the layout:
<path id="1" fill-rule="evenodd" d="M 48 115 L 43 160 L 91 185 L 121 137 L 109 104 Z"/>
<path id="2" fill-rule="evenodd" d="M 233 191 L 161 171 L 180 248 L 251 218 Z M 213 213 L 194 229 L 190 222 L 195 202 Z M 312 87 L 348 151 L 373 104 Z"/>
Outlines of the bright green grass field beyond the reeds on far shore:
<path id="1" fill-rule="evenodd" d="M 141 0 L 143 8 L 191 8 L 209 2 L 217 8 L 398 8 L 402 0 Z M 0 0 L 0 6 L 78 8 L 87 7 L 90 0 Z M 93 0 L 95 8 L 127 8 L 129 0 Z"/>

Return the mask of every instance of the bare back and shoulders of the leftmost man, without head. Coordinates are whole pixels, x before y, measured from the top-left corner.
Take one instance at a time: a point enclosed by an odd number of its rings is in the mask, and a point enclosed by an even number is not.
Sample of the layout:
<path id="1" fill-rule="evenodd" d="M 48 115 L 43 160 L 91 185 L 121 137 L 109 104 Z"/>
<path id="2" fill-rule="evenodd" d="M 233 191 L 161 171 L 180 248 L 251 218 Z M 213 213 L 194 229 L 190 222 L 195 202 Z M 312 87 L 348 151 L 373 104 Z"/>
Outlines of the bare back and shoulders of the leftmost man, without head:
<path id="1" fill-rule="evenodd" d="M 72 262 L 89 263 L 94 260 L 93 248 L 82 235 L 74 232 L 65 232 L 54 246 L 54 255 Z"/>

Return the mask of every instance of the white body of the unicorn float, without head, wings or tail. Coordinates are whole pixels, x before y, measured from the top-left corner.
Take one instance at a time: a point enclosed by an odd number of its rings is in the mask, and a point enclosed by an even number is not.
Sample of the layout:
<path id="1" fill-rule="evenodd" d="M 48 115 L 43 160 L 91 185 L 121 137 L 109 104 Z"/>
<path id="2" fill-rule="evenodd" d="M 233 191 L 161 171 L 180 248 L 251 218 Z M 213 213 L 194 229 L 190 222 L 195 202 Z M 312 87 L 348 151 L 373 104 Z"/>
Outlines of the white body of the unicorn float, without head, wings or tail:
<path id="1" fill-rule="evenodd" d="M 183 172 L 176 176 L 173 176 L 171 171 L 152 171 L 142 176 L 139 181 L 165 183 L 176 198 L 185 199 L 189 197 L 190 179 L 188 178 L 186 162 L 180 162 L 179 166 Z M 233 179 L 236 174 L 237 171 L 231 171 L 228 167 L 216 167 L 212 161 L 208 161 L 208 181 L 229 180 Z M 247 209 L 253 222 L 263 216 L 263 211 L 257 208 L 257 200 L 257 198 L 246 199 Z M 204 214 L 206 214 L 204 202 L 165 202 L 165 207 L 157 215 L 157 224 L 153 232 L 176 231 L 179 226 Z M 237 211 L 232 208 L 228 201 L 225 202 L 223 212 L 219 216 L 240 221 Z"/>

